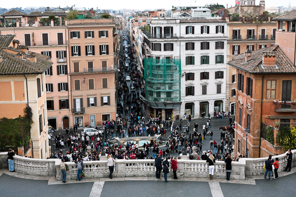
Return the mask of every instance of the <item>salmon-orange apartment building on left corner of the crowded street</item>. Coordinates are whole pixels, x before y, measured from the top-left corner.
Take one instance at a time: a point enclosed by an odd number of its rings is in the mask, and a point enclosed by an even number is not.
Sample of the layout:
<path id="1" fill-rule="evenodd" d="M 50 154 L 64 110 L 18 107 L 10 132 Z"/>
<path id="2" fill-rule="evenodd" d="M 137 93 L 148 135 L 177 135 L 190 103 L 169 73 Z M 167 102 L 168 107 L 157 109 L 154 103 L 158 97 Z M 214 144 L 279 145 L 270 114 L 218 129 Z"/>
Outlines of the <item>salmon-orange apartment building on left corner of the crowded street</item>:
<path id="1" fill-rule="evenodd" d="M 78 127 L 116 118 L 114 26 L 112 19 L 68 23 L 72 113 Z"/>

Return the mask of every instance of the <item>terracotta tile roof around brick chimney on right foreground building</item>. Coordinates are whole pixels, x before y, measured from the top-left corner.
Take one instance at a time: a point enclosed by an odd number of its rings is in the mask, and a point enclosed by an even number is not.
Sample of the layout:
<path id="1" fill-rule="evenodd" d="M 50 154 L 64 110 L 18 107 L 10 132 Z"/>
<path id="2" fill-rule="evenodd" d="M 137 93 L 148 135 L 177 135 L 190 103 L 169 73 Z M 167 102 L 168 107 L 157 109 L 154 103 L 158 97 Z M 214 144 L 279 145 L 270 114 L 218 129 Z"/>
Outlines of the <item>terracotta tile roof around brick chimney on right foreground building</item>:
<path id="1" fill-rule="evenodd" d="M 262 65 L 263 54 L 275 55 L 276 66 Z M 242 53 L 234 56 L 227 64 L 249 73 L 296 73 L 296 67 L 278 45 L 252 51 L 248 62 L 245 61 L 245 53 Z"/>

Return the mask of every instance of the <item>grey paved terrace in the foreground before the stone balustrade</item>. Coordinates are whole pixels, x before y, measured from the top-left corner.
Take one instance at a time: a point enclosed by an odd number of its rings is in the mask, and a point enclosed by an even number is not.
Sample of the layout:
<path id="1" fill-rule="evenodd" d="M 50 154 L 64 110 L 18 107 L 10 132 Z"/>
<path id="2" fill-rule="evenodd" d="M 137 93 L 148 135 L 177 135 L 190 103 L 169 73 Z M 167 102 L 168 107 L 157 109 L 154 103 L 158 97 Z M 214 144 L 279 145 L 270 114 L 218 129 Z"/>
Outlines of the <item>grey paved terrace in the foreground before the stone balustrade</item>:
<path id="1" fill-rule="evenodd" d="M 296 188 L 296 167 L 280 172 L 279 179 L 264 180 L 263 176 L 246 180 L 180 178 L 165 183 L 154 177 L 83 179 L 81 182 L 56 181 L 55 177 L 40 177 L 0 170 L 1 197 L 293 197 Z M 215 174 L 214 174 L 215 177 Z"/>

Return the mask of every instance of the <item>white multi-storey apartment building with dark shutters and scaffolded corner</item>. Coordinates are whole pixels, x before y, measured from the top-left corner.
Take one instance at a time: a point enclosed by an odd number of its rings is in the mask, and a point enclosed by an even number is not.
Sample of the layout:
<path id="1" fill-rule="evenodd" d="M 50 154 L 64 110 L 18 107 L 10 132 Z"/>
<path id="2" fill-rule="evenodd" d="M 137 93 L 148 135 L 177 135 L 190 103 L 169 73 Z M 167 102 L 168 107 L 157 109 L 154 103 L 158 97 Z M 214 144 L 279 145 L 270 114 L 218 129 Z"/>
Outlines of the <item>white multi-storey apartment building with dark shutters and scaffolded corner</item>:
<path id="1" fill-rule="evenodd" d="M 146 99 L 150 102 L 176 102 L 173 109 L 156 103 L 158 108 L 154 109 L 154 114 L 161 114 L 166 119 L 183 117 L 185 113 L 198 118 L 203 112 L 213 115 L 214 111 L 225 109 L 226 30 L 226 21 L 217 17 L 151 20 L 150 32 L 143 31 L 146 57 L 173 60 L 174 66 L 178 65 L 175 60 L 181 60 L 181 69 L 176 70 L 180 72 L 179 79 L 174 79 L 176 84 L 164 88 L 152 85 L 151 94 L 146 92 Z M 181 94 L 163 94 L 162 89 L 167 92 L 180 89 Z"/>

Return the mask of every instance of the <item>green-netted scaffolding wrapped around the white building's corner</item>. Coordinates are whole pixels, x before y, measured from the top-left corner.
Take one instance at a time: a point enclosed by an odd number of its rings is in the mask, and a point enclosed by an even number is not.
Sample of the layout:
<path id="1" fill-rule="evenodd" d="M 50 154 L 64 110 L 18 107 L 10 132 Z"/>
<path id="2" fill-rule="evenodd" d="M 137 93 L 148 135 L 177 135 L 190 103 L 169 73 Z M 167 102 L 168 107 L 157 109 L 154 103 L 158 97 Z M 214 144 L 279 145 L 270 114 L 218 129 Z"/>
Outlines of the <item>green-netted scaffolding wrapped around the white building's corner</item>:
<path id="1" fill-rule="evenodd" d="M 155 109 L 157 117 L 165 113 L 166 119 L 172 118 L 173 109 L 180 108 L 182 103 L 181 60 L 179 57 L 145 58 L 144 77 L 146 98 L 142 98 L 142 100 L 149 107 Z M 156 109 L 158 110 L 156 111 Z"/>

